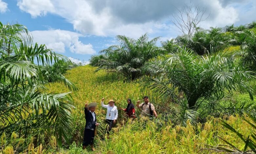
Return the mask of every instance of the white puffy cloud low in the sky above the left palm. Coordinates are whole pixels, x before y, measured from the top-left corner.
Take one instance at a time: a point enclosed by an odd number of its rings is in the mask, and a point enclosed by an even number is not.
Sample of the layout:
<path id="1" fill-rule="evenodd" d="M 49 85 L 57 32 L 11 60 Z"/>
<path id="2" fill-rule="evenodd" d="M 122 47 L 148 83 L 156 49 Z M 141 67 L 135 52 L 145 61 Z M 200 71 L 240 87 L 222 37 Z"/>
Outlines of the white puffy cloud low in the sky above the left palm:
<path id="1" fill-rule="evenodd" d="M 95 54 L 91 44 L 83 44 L 79 41 L 82 34 L 67 30 L 36 30 L 31 32 L 33 42 L 45 44 L 47 48 L 51 48 L 56 52 L 64 53 L 65 48 L 77 54 Z"/>

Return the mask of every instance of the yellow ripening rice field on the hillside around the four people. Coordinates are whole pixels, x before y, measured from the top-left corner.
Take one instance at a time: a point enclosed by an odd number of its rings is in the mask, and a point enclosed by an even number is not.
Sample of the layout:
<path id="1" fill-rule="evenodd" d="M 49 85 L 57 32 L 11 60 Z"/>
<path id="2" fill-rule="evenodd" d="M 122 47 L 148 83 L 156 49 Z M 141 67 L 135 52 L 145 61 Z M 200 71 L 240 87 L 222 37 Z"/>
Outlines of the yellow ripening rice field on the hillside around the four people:
<path id="1" fill-rule="evenodd" d="M 73 144 L 69 150 L 58 150 L 60 153 L 85 152 L 81 149 L 85 125 L 83 113 L 85 103 L 97 102 L 99 104 L 100 99 L 104 97 L 106 100 L 114 99 L 118 107 L 125 107 L 127 98 L 131 98 L 133 103 L 135 100 L 141 99 L 139 81 L 124 83 L 123 78 L 118 75 L 108 74 L 104 71 L 94 73 L 95 69 L 96 67 L 87 65 L 76 67 L 65 74 L 79 88 L 78 91 L 72 93 L 75 108 L 72 113 L 74 119 L 72 120 L 73 132 L 71 134 L 73 141 L 77 144 Z M 64 92 L 66 88 L 60 84 L 52 84 L 49 91 Z M 248 95 L 241 96 L 248 98 Z M 159 113 L 158 106 L 156 109 Z M 110 140 L 104 140 L 105 109 L 98 106 L 96 114 L 98 122 L 101 124 L 97 128 L 96 153 L 198 153 L 200 149 L 206 148 L 206 145 L 225 144 L 218 137 L 238 147 L 244 145 L 234 133 L 220 125 L 220 120 L 217 118 L 208 117 L 204 125 L 199 123 L 192 126 L 187 123 L 188 125 L 183 127 L 174 126 L 171 120 L 165 119 L 162 114 L 158 119 L 152 121 L 147 120 L 147 118 L 127 121 L 120 110 L 113 135 L 111 135 Z M 137 114 L 139 114 L 138 109 Z M 239 116 L 225 116 L 224 119 L 228 119 L 227 123 L 240 130 L 245 136 L 251 132 L 251 126 L 242 121 Z"/>

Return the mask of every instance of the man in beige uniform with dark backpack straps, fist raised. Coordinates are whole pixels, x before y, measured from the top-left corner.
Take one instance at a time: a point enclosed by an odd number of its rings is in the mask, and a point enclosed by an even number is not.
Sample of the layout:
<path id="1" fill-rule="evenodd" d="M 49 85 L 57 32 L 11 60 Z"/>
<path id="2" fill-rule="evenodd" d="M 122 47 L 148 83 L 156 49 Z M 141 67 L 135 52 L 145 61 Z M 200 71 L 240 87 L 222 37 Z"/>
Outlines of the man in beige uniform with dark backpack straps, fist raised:
<path id="1" fill-rule="evenodd" d="M 137 101 L 137 105 L 136 105 L 138 108 L 142 109 L 141 115 L 151 117 L 150 109 L 149 109 L 149 106 L 150 106 L 151 111 L 154 113 L 155 117 L 157 117 L 157 112 L 155 110 L 155 106 L 152 103 L 149 103 L 147 96 L 144 96 L 143 99 L 144 99 L 144 103 L 139 104 L 140 101 Z"/>

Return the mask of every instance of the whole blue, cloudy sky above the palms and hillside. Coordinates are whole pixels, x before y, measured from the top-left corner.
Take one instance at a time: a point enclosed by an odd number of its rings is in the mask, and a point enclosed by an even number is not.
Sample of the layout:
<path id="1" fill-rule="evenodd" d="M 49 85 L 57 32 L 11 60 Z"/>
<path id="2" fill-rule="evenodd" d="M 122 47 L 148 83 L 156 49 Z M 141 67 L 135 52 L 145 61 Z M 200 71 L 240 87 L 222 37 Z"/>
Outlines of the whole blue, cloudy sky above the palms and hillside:
<path id="1" fill-rule="evenodd" d="M 190 2 L 209 15 L 199 25 L 204 29 L 256 20 L 256 0 L 0 0 L 0 21 L 22 24 L 33 43 L 87 64 L 92 55 L 118 44 L 116 35 L 176 38 L 181 33 L 171 20 Z"/>

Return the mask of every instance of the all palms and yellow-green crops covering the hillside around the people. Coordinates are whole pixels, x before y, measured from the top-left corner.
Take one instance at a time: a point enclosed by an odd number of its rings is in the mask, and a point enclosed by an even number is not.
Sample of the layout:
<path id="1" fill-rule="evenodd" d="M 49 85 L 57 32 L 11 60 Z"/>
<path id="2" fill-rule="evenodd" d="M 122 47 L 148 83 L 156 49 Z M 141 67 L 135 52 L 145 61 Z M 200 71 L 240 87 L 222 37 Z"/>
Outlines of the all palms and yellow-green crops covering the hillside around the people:
<path id="1" fill-rule="evenodd" d="M 32 46 L 24 26 L 0 23 L 0 153 L 255 153 L 255 22 L 228 29 L 198 28 L 162 47 L 159 37 L 118 35 L 119 45 L 77 66 Z M 119 110 L 107 139 L 97 106 L 96 152 L 82 150 L 85 103 L 124 108 L 145 95 L 158 118 Z"/>

